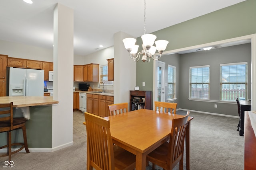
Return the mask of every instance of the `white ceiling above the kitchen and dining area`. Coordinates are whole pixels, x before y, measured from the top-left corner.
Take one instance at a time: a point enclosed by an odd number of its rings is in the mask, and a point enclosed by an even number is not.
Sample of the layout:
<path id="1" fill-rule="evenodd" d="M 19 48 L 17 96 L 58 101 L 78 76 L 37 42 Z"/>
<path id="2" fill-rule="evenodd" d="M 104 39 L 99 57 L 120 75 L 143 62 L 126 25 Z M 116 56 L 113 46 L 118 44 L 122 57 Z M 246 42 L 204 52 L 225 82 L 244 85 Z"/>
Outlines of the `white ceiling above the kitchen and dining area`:
<path id="1" fill-rule="evenodd" d="M 74 54 L 88 55 L 114 45 L 119 31 L 144 34 L 143 0 L 1 0 L 0 40 L 53 48 L 53 10 L 74 9 Z M 146 33 L 237 4 L 244 0 L 147 0 Z M 99 47 L 103 45 L 103 47 Z"/>

